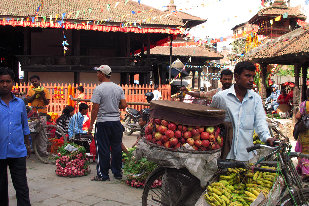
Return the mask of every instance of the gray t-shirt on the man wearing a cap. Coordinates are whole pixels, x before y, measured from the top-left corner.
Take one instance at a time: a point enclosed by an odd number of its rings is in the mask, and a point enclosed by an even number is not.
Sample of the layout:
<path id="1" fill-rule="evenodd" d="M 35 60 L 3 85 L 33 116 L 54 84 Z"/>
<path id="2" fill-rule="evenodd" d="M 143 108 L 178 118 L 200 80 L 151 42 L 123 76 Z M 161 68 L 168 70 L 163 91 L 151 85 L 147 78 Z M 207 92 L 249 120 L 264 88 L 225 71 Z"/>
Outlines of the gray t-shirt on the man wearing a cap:
<path id="1" fill-rule="evenodd" d="M 102 82 L 96 86 L 90 101 L 100 104 L 97 122 L 119 121 L 120 99 L 125 99 L 121 86 L 113 82 Z"/>

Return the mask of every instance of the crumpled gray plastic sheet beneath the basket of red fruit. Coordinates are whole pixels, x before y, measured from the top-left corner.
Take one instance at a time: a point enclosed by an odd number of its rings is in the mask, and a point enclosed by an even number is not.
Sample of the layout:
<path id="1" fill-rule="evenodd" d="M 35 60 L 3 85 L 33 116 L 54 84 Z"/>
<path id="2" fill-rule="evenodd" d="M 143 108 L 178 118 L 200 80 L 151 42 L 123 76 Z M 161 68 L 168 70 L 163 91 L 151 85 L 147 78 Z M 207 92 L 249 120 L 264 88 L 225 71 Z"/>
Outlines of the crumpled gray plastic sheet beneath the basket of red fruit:
<path id="1" fill-rule="evenodd" d="M 218 170 L 217 159 L 220 158 L 221 149 L 213 150 L 212 153 L 207 154 L 193 154 L 152 147 L 142 139 L 138 143 L 139 146 L 133 153 L 136 159 L 145 157 L 148 161 L 164 167 L 177 169 L 186 167 L 191 174 L 201 181 L 202 188 L 207 185 Z"/>

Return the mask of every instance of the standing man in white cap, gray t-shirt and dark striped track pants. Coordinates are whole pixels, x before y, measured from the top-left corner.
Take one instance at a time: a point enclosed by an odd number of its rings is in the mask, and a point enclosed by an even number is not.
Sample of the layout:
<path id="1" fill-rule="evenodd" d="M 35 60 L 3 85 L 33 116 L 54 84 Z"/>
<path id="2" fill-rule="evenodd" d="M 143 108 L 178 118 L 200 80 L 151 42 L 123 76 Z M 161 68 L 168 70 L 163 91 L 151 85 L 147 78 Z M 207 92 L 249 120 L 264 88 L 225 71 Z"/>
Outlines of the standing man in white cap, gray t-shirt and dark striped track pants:
<path id="1" fill-rule="evenodd" d="M 116 179 L 122 179 L 122 125 L 120 122 L 119 109 L 125 109 L 127 103 L 121 86 L 110 81 L 112 69 L 108 65 L 95 67 L 97 78 L 102 82 L 95 87 L 92 97 L 91 122 L 88 133 L 92 133 L 95 124 L 95 147 L 97 155 L 97 176 L 92 181 L 109 181 L 108 170 Z M 110 147 L 112 152 L 110 151 Z M 112 162 L 110 157 L 112 153 Z"/>

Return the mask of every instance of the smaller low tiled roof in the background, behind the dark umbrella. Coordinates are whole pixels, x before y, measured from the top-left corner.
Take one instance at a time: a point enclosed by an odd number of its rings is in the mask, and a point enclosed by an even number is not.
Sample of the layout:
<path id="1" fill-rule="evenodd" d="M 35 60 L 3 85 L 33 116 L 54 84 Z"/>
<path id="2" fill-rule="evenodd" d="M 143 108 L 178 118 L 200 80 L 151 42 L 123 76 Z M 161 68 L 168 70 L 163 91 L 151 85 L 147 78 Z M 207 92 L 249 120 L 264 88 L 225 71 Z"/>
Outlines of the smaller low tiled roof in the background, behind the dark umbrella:
<path id="1" fill-rule="evenodd" d="M 169 46 L 157 46 L 150 49 L 150 55 L 159 55 L 159 56 L 169 56 L 170 47 Z M 204 48 L 204 46 L 191 45 L 191 46 L 182 46 L 182 47 L 173 47 L 172 55 L 175 57 L 178 56 L 191 56 L 191 57 L 207 57 L 208 60 L 223 59 L 224 55 L 209 48 Z"/>

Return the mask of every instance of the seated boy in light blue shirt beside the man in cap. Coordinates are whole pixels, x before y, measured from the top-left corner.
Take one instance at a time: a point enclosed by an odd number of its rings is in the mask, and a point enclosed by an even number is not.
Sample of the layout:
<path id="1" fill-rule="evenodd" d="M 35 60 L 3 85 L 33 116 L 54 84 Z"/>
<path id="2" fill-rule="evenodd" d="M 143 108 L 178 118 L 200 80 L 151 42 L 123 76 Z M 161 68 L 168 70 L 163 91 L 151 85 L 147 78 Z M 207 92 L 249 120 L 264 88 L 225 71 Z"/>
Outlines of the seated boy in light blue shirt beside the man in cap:
<path id="1" fill-rule="evenodd" d="M 70 119 L 68 133 L 71 142 L 84 146 L 86 153 L 90 153 L 90 144 L 93 140 L 93 136 L 87 134 L 86 131 L 83 131 L 84 115 L 87 115 L 87 112 L 88 105 L 80 103 L 78 106 L 78 112 Z"/>

